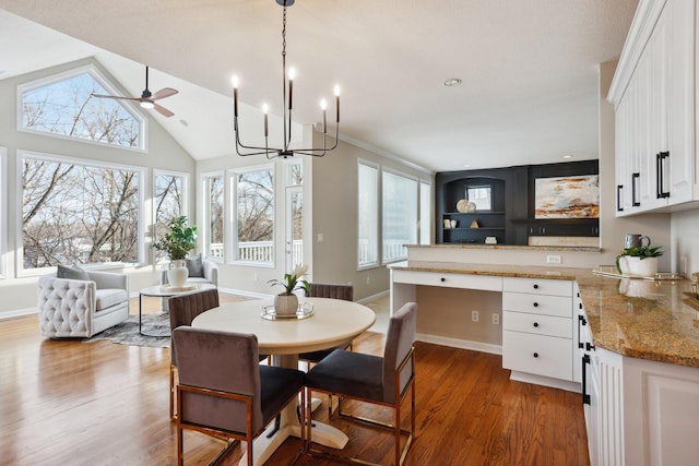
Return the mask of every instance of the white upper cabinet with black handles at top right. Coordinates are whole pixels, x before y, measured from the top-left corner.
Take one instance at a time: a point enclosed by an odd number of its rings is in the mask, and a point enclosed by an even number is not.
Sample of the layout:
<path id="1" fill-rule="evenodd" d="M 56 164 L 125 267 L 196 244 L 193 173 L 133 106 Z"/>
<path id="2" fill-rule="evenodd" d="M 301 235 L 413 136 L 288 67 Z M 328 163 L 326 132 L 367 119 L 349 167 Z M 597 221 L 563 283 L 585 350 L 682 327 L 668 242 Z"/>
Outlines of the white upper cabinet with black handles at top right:
<path id="1" fill-rule="evenodd" d="M 609 88 L 617 216 L 699 200 L 695 1 L 641 0 Z"/>

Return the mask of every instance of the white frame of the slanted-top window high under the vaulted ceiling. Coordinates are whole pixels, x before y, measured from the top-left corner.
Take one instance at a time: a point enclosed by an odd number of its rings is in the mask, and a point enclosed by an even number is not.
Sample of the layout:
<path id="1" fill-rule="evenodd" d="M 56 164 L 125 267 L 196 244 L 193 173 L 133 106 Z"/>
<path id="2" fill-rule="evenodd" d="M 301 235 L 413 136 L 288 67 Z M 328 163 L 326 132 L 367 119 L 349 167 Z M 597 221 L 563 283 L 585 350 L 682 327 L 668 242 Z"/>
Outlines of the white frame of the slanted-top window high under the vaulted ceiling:
<path id="1" fill-rule="evenodd" d="M 121 91 L 118 86 L 112 84 L 94 64 L 85 64 L 83 67 L 73 68 L 61 73 L 51 74 L 48 76 L 39 77 L 38 80 L 29 81 L 17 85 L 16 96 L 16 128 L 19 132 L 25 132 L 29 134 L 38 134 L 48 138 L 57 138 L 64 141 L 80 142 L 84 144 L 96 144 L 103 147 L 118 148 L 120 151 L 135 151 L 140 153 L 146 153 L 149 147 L 149 120 L 138 110 L 137 106 L 128 100 L 119 101 L 118 104 L 125 108 L 139 123 L 140 123 L 140 144 L 138 147 L 129 147 L 122 145 L 109 144 L 102 141 L 92 141 L 86 139 L 73 138 L 64 134 L 51 133 L 48 131 L 35 130 L 32 128 L 25 128 L 23 126 L 23 95 L 27 91 L 34 91 L 40 87 L 46 87 L 51 84 L 70 80 L 72 77 L 80 76 L 81 74 L 90 74 L 99 85 L 102 85 L 109 95 L 127 95 L 125 91 Z"/>

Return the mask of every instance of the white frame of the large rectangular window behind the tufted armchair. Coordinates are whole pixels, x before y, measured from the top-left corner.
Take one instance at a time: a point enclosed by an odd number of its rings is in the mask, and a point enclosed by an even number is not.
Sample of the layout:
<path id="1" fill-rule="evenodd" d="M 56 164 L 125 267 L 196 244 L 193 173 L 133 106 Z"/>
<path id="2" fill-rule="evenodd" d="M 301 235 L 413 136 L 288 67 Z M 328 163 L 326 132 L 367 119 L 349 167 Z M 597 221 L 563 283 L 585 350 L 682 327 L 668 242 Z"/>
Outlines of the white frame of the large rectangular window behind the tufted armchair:
<path id="1" fill-rule="evenodd" d="M 22 187 L 22 170 L 23 170 L 23 166 L 24 164 L 22 163 L 22 160 L 24 159 L 24 157 L 29 157 L 29 158 L 35 158 L 35 159 L 43 159 L 43 160 L 47 160 L 47 162 L 52 162 L 52 163 L 58 163 L 58 164 L 72 164 L 72 165 L 80 165 L 83 167 L 92 167 L 92 168 L 99 168 L 99 169 L 112 169 L 112 170 L 131 170 L 131 171 L 137 171 L 139 174 L 139 193 L 138 193 L 138 205 L 139 205 L 139 214 L 138 214 L 138 222 L 139 222 L 139 228 L 138 228 L 138 238 L 139 238 L 139 246 L 137 248 L 138 251 L 138 258 L 137 258 L 137 262 L 134 264 L 131 263 L 127 263 L 127 262 L 109 262 L 108 265 L 105 265 L 104 263 L 99 263 L 99 264 L 84 264 L 85 267 L 87 268 L 100 268 L 100 267 L 109 267 L 112 268 L 114 266 L 120 266 L 120 267 L 140 267 L 143 266 L 146 261 L 145 261 L 145 211 L 146 208 L 144 208 L 145 206 L 145 180 L 146 180 L 146 176 L 147 176 L 147 169 L 145 167 L 138 167 L 138 166 L 133 166 L 133 165 L 122 165 L 122 164 L 114 164 L 114 163 L 108 163 L 108 162 L 98 162 L 98 160 L 93 160 L 93 159 L 86 159 L 86 158 L 78 158 L 78 157 L 70 157 L 70 156 L 64 156 L 64 155 L 58 155 L 58 154 L 48 154 L 48 153 L 40 153 L 40 152 L 34 152 L 34 151 L 25 151 L 25 150 L 17 150 L 16 151 L 16 186 L 17 187 Z M 55 271 L 56 266 L 48 266 L 48 267 L 36 267 L 36 268 L 24 268 L 24 235 L 22 232 L 24 224 L 22 222 L 22 213 L 23 213 L 23 201 L 24 201 L 24 190 L 21 191 L 21 194 L 16 196 L 16 214 L 15 214 L 15 223 L 16 223 L 16 230 L 15 230 L 15 268 L 16 268 L 16 276 L 17 277 L 31 277 L 31 276 L 38 276 L 38 275 L 44 275 L 50 271 Z"/>

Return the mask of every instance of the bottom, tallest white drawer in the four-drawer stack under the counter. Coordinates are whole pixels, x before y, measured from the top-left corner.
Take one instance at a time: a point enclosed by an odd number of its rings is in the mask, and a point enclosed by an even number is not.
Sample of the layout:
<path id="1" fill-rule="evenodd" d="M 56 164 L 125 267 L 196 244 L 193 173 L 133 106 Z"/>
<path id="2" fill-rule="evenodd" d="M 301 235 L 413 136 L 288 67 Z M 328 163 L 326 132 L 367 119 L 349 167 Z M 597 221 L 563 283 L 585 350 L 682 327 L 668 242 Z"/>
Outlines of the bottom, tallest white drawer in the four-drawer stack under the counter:
<path id="1" fill-rule="evenodd" d="M 572 340 L 555 336 L 502 332 L 505 369 L 572 380 Z"/>

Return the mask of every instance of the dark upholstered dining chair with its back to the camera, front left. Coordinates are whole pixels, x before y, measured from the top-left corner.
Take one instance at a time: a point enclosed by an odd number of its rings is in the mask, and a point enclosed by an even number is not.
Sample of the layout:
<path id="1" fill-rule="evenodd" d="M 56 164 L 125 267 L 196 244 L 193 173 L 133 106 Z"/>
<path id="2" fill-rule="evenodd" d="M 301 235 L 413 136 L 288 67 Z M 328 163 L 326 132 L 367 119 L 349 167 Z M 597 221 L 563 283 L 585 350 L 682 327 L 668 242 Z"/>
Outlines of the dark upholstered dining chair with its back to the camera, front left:
<path id="1" fill-rule="evenodd" d="M 286 405 L 297 403 L 299 393 L 305 414 L 304 372 L 260 366 L 254 335 L 180 326 L 175 328 L 173 337 L 178 348 L 177 459 L 180 466 L 185 453 L 182 429 L 245 441 L 251 466 L 253 440 Z M 214 463 L 234 444 L 228 442 Z M 303 446 L 294 462 L 301 451 Z"/>

